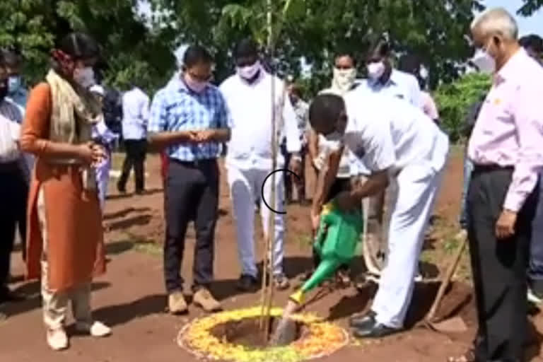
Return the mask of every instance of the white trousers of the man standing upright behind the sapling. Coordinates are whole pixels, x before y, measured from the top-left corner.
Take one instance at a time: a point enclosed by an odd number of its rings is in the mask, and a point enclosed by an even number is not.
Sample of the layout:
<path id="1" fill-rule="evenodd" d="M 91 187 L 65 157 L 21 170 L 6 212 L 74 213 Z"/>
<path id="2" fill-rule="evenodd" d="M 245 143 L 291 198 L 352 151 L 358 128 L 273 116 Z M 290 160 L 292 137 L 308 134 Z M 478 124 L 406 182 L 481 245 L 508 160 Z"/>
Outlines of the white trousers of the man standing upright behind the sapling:
<path id="1" fill-rule="evenodd" d="M 255 262 L 255 203 L 260 204 L 260 216 L 264 238 L 268 235 L 268 218 L 274 214 L 275 240 L 273 245 L 274 275 L 283 274 L 283 239 L 285 233 L 284 215 L 276 214 L 268 209 L 262 201 L 262 184 L 269 175 L 269 170 L 240 169 L 228 165 L 228 184 L 230 197 L 233 202 L 236 231 L 238 234 L 238 256 L 240 258 L 242 274 L 257 276 Z M 284 175 L 275 173 L 275 207 L 276 211 L 284 211 Z M 271 176 L 264 185 L 264 197 L 271 206 Z"/>

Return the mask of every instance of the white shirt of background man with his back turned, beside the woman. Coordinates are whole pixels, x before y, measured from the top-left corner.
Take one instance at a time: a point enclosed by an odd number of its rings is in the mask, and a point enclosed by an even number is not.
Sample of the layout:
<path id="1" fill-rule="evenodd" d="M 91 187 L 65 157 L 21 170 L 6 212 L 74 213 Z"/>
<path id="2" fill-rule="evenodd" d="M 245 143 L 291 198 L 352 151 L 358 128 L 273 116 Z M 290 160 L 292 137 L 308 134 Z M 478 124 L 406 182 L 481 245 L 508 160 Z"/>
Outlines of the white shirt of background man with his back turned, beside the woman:
<path id="1" fill-rule="evenodd" d="M 149 97 L 139 88 L 122 95 L 122 137 L 140 140 L 147 137 Z"/>

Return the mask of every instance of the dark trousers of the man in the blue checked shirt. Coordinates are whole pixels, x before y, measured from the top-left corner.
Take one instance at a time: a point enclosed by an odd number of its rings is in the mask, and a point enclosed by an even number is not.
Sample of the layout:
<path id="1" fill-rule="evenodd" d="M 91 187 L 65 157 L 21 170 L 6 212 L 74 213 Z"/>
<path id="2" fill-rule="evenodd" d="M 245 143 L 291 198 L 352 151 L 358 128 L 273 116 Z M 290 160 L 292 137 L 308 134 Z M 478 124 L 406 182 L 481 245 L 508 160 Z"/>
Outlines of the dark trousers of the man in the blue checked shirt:
<path id="1" fill-rule="evenodd" d="M 168 293 L 182 291 L 180 269 L 189 221 L 194 221 L 196 229 L 192 288 L 207 288 L 211 284 L 218 217 L 218 181 L 216 160 L 196 163 L 180 162 L 172 158 L 169 160 L 164 200 L 164 278 Z"/>

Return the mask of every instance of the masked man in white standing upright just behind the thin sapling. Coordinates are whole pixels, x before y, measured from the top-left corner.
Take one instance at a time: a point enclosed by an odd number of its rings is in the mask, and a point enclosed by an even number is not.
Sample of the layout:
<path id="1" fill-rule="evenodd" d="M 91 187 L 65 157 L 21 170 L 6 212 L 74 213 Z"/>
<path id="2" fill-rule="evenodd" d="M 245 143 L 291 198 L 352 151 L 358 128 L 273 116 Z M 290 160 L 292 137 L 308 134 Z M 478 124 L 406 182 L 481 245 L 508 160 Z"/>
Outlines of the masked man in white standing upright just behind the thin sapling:
<path id="1" fill-rule="evenodd" d="M 275 82 L 274 107 L 276 110 L 276 140 L 286 136 L 286 148 L 291 157 L 292 168 L 300 165 L 300 133 L 296 113 L 288 100 L 285 84 L 279 78 L 271 76 L 260 65 L 257 47 L 251 40 L 243 40 L 235 50 L 237 73 L 226 79 L 220 90 L 223 93 L 233 118 L 231 139 L 228 143 L 226 167 L 228 168 L 228 184 L 230 197 L 233 200 L 233 211 L 238 234 L 238 254 L 242 275 L 238 288 L 250 291 L 257 286 L 257 267 L 255 264 L 254 220 L 255 202 L 260 202 L 260 214 L 264 238 L 268 234 L 268 218 L 275 218 L 274 232 L 274 264 L 271 272 L 278 288 L 288 288 L 288 279 L 283 271 L 284 257 L 284 216 L 276 214 L 263 204 L 261 190 L 264 185 L 264 198 L 270 204 L 271 177 L 271 82 Z M 277 169 L 285 168 L 284 157 L 277 147 Z M 275 174 L 276 211 L 284 211 L 284 177 Z M 266 271 L 264 271 L 266 272 Z"/>

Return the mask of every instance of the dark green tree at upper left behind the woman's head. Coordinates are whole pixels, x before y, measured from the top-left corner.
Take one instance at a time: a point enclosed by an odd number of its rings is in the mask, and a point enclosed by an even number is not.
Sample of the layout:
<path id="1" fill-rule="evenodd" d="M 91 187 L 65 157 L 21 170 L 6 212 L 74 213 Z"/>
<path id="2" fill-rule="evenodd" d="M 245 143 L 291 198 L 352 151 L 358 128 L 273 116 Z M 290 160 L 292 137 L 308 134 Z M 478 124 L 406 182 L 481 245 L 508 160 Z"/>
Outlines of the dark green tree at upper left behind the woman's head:
<path id="1" fill-rule="evenodd" d="M 152 91 L 175 68 L 175 34 L 146 27 L 135 6 L 135 0 L 2 0 L 0 47 L 18 49 L 26 60 L 25 74 L 38 81 L 54 43 L 71 31 L 84 31 L 103 47 L 100 68 L 108 84 L 123 87 L 134 81 Z"/>

